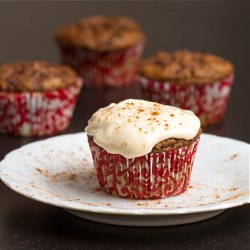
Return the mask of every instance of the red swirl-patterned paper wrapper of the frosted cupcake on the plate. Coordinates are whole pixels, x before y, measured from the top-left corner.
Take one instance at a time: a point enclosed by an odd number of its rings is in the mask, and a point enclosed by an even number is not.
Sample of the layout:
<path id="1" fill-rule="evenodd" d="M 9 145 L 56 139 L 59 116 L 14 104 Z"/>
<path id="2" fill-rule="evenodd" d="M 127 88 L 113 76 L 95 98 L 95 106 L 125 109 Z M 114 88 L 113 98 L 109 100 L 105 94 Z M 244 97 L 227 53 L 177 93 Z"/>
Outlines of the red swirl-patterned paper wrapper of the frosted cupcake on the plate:
<path id="1" fill-rule="evenodd" d="M 110 154 L 89 139 L 100 187 L 109 194 L 159 199 L 187 190 L 199 139 L 169 152 L 127 159 Z"/>

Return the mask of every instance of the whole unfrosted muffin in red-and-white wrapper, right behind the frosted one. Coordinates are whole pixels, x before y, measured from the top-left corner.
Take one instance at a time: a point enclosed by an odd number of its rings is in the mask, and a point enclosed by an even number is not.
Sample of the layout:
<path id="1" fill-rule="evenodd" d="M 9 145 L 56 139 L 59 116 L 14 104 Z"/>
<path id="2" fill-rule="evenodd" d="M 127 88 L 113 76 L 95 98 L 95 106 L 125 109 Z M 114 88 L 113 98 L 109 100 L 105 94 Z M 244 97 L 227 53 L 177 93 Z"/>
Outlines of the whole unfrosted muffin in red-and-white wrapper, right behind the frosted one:
<path id="1" fill-rule="evenodd" d="M 145 59 L 139 75 L 146 99 L 192 110 L 206 126 L 224 117 L 234 68 L 219 56 L 181 50 Z"/>

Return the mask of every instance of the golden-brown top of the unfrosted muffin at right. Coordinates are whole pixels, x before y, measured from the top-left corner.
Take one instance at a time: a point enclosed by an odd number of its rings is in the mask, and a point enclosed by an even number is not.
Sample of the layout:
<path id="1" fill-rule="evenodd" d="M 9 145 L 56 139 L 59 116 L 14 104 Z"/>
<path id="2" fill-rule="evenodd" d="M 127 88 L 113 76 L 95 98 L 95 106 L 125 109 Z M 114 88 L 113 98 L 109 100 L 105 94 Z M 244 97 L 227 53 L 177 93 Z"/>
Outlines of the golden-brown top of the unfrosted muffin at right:
<path id="1" fill-rule="evenodd" d="M 216 55 L 188 50 L 158 52 L 144 60 L 140 75 L 180 84 L 209 84 L 233 74 L 233 65 Z"/>

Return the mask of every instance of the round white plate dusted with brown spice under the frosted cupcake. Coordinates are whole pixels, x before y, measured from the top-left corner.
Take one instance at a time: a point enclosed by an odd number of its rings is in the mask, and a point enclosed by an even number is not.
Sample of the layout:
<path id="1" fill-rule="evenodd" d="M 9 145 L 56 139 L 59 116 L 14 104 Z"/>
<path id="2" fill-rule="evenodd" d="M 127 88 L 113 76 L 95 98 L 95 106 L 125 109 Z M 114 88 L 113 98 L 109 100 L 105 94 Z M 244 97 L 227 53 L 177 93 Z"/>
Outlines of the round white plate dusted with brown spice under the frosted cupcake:
<path id="1" fill-rule="evenodd" d="M 249 203 L 249 144 L 202 134 L 187 192 L 132 200 L 98 187 L 85 133 L 25 145 L 0 162 L 2 181 L 16 192 L 79 217 L 118 225 L 163 226 L 211 218 Z"/>

